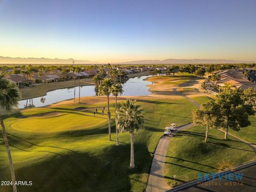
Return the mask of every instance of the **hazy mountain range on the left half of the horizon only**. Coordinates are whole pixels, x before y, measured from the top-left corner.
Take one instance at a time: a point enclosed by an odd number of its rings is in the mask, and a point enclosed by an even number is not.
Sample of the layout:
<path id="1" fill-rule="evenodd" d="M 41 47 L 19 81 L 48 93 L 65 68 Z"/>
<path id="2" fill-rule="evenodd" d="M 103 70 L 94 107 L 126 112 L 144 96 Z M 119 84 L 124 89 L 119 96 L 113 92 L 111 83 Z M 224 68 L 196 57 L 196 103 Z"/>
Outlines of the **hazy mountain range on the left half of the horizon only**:
<path id="1" fill-rule="evenodd" d="M 12 57 L 2 57 L 0 56 L 0 64 L 52 64 L 52 65 L 63 65 L 63 64 L 73 64 L 72 58 L 69 59 L 49 59 L 49 58 L 12 58 Z M 98 62 L 87 61 L 87 60 L 75 60 L 75 64 L 98 64 Z"/>

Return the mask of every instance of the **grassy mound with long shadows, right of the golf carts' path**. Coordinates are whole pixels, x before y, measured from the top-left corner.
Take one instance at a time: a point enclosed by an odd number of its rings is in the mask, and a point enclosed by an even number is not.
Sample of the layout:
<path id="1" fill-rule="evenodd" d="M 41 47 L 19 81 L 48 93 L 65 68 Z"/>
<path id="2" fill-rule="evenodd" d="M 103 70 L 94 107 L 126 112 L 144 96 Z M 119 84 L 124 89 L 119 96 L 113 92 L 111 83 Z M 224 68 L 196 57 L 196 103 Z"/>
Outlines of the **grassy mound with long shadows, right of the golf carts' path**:
<path id="1" fill-rule="evenodd" d="M 211 129 L 209 142 L 204 142 L 205 127 L 195 126 L 179 132 L 170 142 L 165 164 L 165 178 L 169 185 L 197 179 L 197 173 L 214 173 L 219 163 L 233 166 L 256 159 L 255 152 L 234 138 L 223 140 L 223 133 Z M 175 181 L 173 175 L 176 175 Z"/>

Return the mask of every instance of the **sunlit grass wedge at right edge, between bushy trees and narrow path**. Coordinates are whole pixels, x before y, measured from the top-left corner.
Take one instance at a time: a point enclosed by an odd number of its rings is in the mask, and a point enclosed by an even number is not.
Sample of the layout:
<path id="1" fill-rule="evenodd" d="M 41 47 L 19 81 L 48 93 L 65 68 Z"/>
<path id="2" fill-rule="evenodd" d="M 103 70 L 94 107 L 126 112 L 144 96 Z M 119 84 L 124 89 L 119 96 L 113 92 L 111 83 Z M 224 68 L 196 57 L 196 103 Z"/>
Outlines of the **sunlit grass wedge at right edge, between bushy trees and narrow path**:
<path id="1" fill-rule="evenodd" d="M 251 125 L 247 127 L 238 128 L 238 130 L 229 129 L 229 133 L 234 134 L 245 141 L 254 143 L 256 145 L 256 117 L 250 116 Z"/>

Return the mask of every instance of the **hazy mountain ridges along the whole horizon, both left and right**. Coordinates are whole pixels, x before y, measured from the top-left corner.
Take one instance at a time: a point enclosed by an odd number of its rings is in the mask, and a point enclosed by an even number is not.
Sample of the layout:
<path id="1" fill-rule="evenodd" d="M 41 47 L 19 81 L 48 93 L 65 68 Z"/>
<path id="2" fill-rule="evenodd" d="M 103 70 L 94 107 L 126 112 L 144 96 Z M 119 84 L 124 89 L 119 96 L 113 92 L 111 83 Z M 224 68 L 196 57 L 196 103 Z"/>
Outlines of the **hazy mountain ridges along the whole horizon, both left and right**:
<path id="1" fill-rule="evenodd" d="M 71 65 L 72 58 L 69 59 L 50 59 L 50 58 L 12 58 L 0 56 L 0 64 L 52 64 L 52 65 Z M 165 59 L 165 60 L 139 60 L 139 61 L 126 61 L 114 62 L 112 64 L 134 65 L 134 64 L 200 64 L 200 63 L 255 63 L 256 61 L 237 61 L 226 59 Z M 88 60 L 75 60 L 75 64 L 101 64 L 100 62 Z"/>

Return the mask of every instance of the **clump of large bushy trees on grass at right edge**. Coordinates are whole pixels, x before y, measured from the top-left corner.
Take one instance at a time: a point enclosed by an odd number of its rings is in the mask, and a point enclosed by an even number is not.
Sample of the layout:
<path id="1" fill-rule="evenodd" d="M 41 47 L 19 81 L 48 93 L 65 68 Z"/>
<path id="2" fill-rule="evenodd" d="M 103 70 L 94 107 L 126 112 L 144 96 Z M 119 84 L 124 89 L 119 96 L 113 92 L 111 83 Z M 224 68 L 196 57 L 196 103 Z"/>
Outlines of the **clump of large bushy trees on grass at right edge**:
<path id="1" fill-rule="evenodd" d="M 239 131 L 251 124 L 249 116 L 255 114 L 255 109 L 256 89 L 250 87 L 242 91 L 227 86 L 217 95 L 216 100 L 208 101 L 193 111 L 193 122 L 206 126 L 206 142 L 211 128 L 225 130 L 226 140 L 229 129 Z"/>

